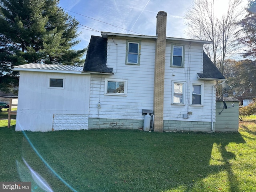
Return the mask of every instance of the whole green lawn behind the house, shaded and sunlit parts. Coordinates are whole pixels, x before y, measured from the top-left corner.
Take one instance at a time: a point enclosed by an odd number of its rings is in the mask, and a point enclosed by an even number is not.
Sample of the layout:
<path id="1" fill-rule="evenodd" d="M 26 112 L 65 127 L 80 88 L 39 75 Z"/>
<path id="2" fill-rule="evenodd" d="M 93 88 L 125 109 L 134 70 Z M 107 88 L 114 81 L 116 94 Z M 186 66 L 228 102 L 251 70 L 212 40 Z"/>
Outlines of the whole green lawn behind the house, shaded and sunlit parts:
<path id="1" fill-rule="evenodd" d="M 240 122 L 238 133 L 212 134 L 22 133 L 14 131 L 15 120 L 10 129 L 5 121 L 0 120 L 0 181 L 31 181 L 34 192 L 43 191 L 42 182 L 54 192 L 256 191 L 253 118 Z M 34 181 L 31 169 L 41 182 Z"/>

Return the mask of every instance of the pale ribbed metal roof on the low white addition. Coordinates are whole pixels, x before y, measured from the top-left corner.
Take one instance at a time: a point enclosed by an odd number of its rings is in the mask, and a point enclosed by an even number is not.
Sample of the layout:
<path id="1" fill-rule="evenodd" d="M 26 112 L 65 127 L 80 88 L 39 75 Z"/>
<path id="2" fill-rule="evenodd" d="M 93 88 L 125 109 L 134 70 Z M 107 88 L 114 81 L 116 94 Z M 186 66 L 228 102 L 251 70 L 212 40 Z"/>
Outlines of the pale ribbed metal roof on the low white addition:
<path id="1" fill-rule="evenodd" d="M 29 63 L 15 66 L 14 71 L 81 73 L 83 66 Z"/>

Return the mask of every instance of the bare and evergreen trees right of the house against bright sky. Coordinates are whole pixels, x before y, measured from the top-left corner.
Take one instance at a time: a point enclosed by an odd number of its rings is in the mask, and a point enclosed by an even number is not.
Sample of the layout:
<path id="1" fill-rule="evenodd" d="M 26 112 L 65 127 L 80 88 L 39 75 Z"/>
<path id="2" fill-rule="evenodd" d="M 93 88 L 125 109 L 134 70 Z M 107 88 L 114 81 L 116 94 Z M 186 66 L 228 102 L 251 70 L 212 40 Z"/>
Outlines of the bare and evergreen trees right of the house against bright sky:
<path id="1" fill-rule="evenodd" d="M 216 0 L 193 0 L 185 14 L 186 33 L 190 38 L 212 41 L 204 45 L 204 51 L 235 95 L 249 90 L 255 96 L 256 0 L 249 0 L 246 8 L 242 8 L 242 0 L 227 2 L 220 14 Z"/>

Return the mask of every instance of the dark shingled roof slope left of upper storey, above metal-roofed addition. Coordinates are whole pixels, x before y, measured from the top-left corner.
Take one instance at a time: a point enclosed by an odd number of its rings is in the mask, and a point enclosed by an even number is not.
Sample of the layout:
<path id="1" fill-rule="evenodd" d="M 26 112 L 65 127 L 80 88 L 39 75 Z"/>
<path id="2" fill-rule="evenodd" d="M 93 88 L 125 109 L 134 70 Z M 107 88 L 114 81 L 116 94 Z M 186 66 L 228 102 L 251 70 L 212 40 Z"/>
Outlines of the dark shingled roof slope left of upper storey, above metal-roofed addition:
<path id="1" fill-rule="evenodd" d="M 113 68 L 106 66 L 107 41 L 102 37 L 91 36 L 83 71 L 112 74 Z"/>

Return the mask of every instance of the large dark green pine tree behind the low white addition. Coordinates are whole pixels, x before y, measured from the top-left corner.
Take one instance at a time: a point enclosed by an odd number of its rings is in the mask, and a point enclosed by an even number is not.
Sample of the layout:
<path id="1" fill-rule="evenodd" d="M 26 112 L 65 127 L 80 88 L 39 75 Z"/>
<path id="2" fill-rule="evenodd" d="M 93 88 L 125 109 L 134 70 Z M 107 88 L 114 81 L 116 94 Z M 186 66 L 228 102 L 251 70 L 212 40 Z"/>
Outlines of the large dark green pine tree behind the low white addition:
<path id="1" fill-rule="evenodd" d="M 26 63 L 80 65 L 86 49 L 72 50 L 80 41 L 78 21 L 59 0 L 0 0 L 0 90 L 18 86 L 11 68 Z"/>

